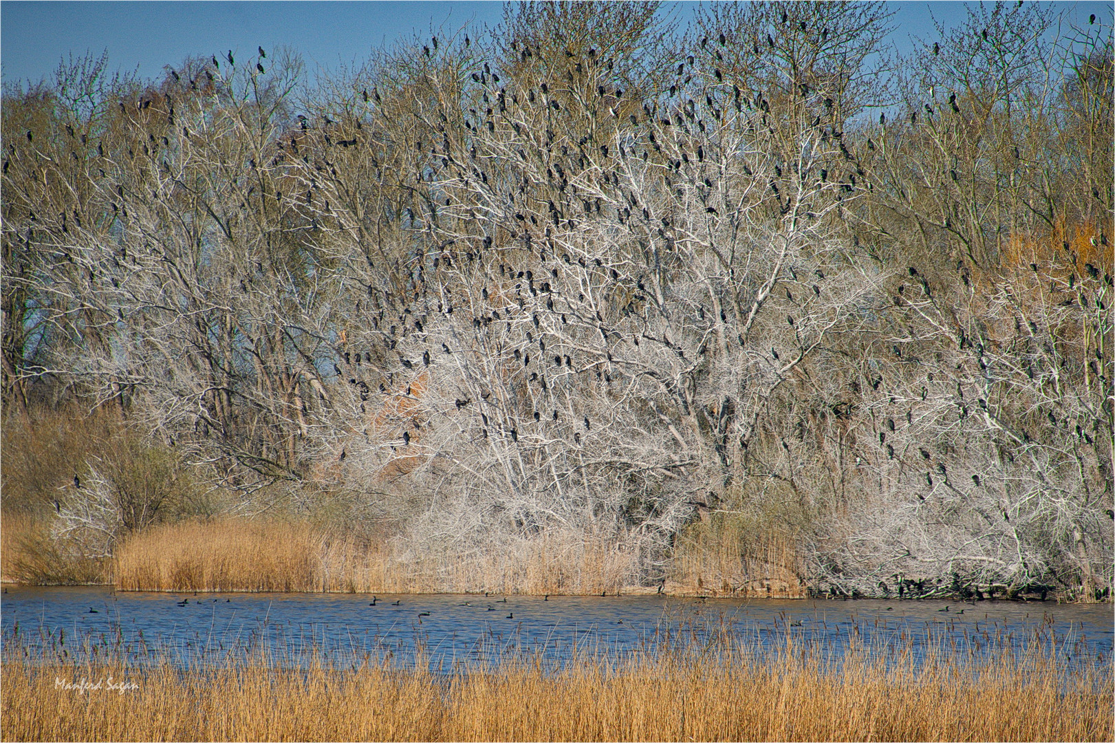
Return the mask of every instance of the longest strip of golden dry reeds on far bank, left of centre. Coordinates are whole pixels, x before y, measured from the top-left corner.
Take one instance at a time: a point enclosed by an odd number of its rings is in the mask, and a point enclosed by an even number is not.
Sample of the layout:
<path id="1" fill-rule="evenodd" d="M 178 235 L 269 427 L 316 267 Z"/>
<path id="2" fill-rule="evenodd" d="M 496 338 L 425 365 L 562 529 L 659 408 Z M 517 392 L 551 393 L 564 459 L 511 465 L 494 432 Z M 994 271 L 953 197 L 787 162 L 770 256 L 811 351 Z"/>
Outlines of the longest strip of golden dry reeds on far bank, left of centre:
<path id="1" fill-rule="evenodd" d="M 308 521 L 221 519 L 152 527 L 113 559 L 120 590 L 599 594 L 633 559 L 605 540 L 544 535 L 472 554 L 408 551 Z"/>

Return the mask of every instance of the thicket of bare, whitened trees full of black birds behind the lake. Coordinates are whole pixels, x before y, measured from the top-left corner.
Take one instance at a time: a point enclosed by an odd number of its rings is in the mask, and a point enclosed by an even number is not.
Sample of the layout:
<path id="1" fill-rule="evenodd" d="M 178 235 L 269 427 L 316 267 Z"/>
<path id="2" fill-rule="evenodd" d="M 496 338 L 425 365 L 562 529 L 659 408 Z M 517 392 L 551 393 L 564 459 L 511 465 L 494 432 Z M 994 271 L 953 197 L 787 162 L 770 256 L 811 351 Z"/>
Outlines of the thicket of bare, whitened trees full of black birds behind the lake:
<path id="1" fill-rule="evenodd" d="M 591 533 L 653 581 L 711 511 L 823 589 L 1111 586 L 1109 27 L 886 59 L 882 3 L 661 10 L 7 90 L 4 404 L 414 550 Z"/>

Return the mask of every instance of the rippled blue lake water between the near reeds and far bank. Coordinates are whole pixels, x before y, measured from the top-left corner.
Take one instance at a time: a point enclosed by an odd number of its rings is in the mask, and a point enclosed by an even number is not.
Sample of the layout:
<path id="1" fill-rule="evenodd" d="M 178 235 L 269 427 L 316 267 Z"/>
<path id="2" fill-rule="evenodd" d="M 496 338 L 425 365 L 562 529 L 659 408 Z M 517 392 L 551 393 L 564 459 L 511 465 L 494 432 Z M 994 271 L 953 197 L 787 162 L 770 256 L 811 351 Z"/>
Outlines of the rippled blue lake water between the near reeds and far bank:
<path id="1" fill-rule="evenodd" d="M 183 602 L 184 601 L 184 602 Z M 660 596 L 570 597 L 363 594 L 155 594 L 104 587 L 9 587 L 0 637 L 28 657 L 151 649 L 185 666 L 265 653 L 302 665 L 421 658 L 432 669 L 497 664 L 524 653 L 560 666 L 581 655 L 707 647 L 733 637 L 758 652 L 787 636 L 840 656 L 849 647 L 951 646 L 975 653 L 1051 648 L 1065 667 L 1111 663 L 1111 605 L 937 600 L 741 600 Z M 949 610 L 943 609 L 948 607 Z M 60 644 L 59 644 L 60 643 Z"/>

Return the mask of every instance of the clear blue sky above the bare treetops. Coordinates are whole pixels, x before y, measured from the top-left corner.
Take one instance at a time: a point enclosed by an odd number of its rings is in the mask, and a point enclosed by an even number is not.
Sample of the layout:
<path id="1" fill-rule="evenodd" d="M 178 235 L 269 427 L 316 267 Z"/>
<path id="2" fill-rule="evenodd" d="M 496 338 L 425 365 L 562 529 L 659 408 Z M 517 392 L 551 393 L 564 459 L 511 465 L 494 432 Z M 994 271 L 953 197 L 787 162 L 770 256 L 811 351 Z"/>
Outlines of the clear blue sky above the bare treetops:
<path id="1" fill-rule="evenodd" d="M 892 42 L 933 38 L 938 20 L 963 18 L 959 2 L 892 2 Z M 1096 13 L 1107 26 L 1108 2 L 1063 3 L 1077 22 Z M 682 25 L 694 3 L 677 3 Z M 372 48 L 432 28 L 455 31 L 466 22 L 495 27 L 500 2 L 0 2 L 0 69 L 6 83 L 49 79 L 59 59 L 108 51 L 110 69 L 158 78 L 165 65 L 191 55 L 251 56 L 256 46 L 288 46 L 309 69 L 359 64 Z"/>

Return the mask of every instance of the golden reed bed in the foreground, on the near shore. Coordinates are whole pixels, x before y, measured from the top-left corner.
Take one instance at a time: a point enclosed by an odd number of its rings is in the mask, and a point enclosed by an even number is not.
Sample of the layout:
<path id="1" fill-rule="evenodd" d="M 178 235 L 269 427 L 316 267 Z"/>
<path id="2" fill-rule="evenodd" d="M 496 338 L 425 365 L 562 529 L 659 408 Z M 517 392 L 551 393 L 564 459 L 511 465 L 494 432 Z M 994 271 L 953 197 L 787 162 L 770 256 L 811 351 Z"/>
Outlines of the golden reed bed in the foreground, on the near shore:
<path id="1" fill-rule="evenodd" d="M 1039 649 L 988 657 L 939 646 L 915 659 L 860 647 L 833 663 L 787 637 L 767 653 L 731 641 L 626 660 L 584 656 L 560 668 L 524 657 L 449 674 L 356 656 L 297 667 L 245 654 L 183 670 L 88 648 L 69 663 L 32 662 L 13 643 L 4 654 L 4 740 L 1106 741 L 1115 733 L 1109 659 L 1065 670 Z"/>

